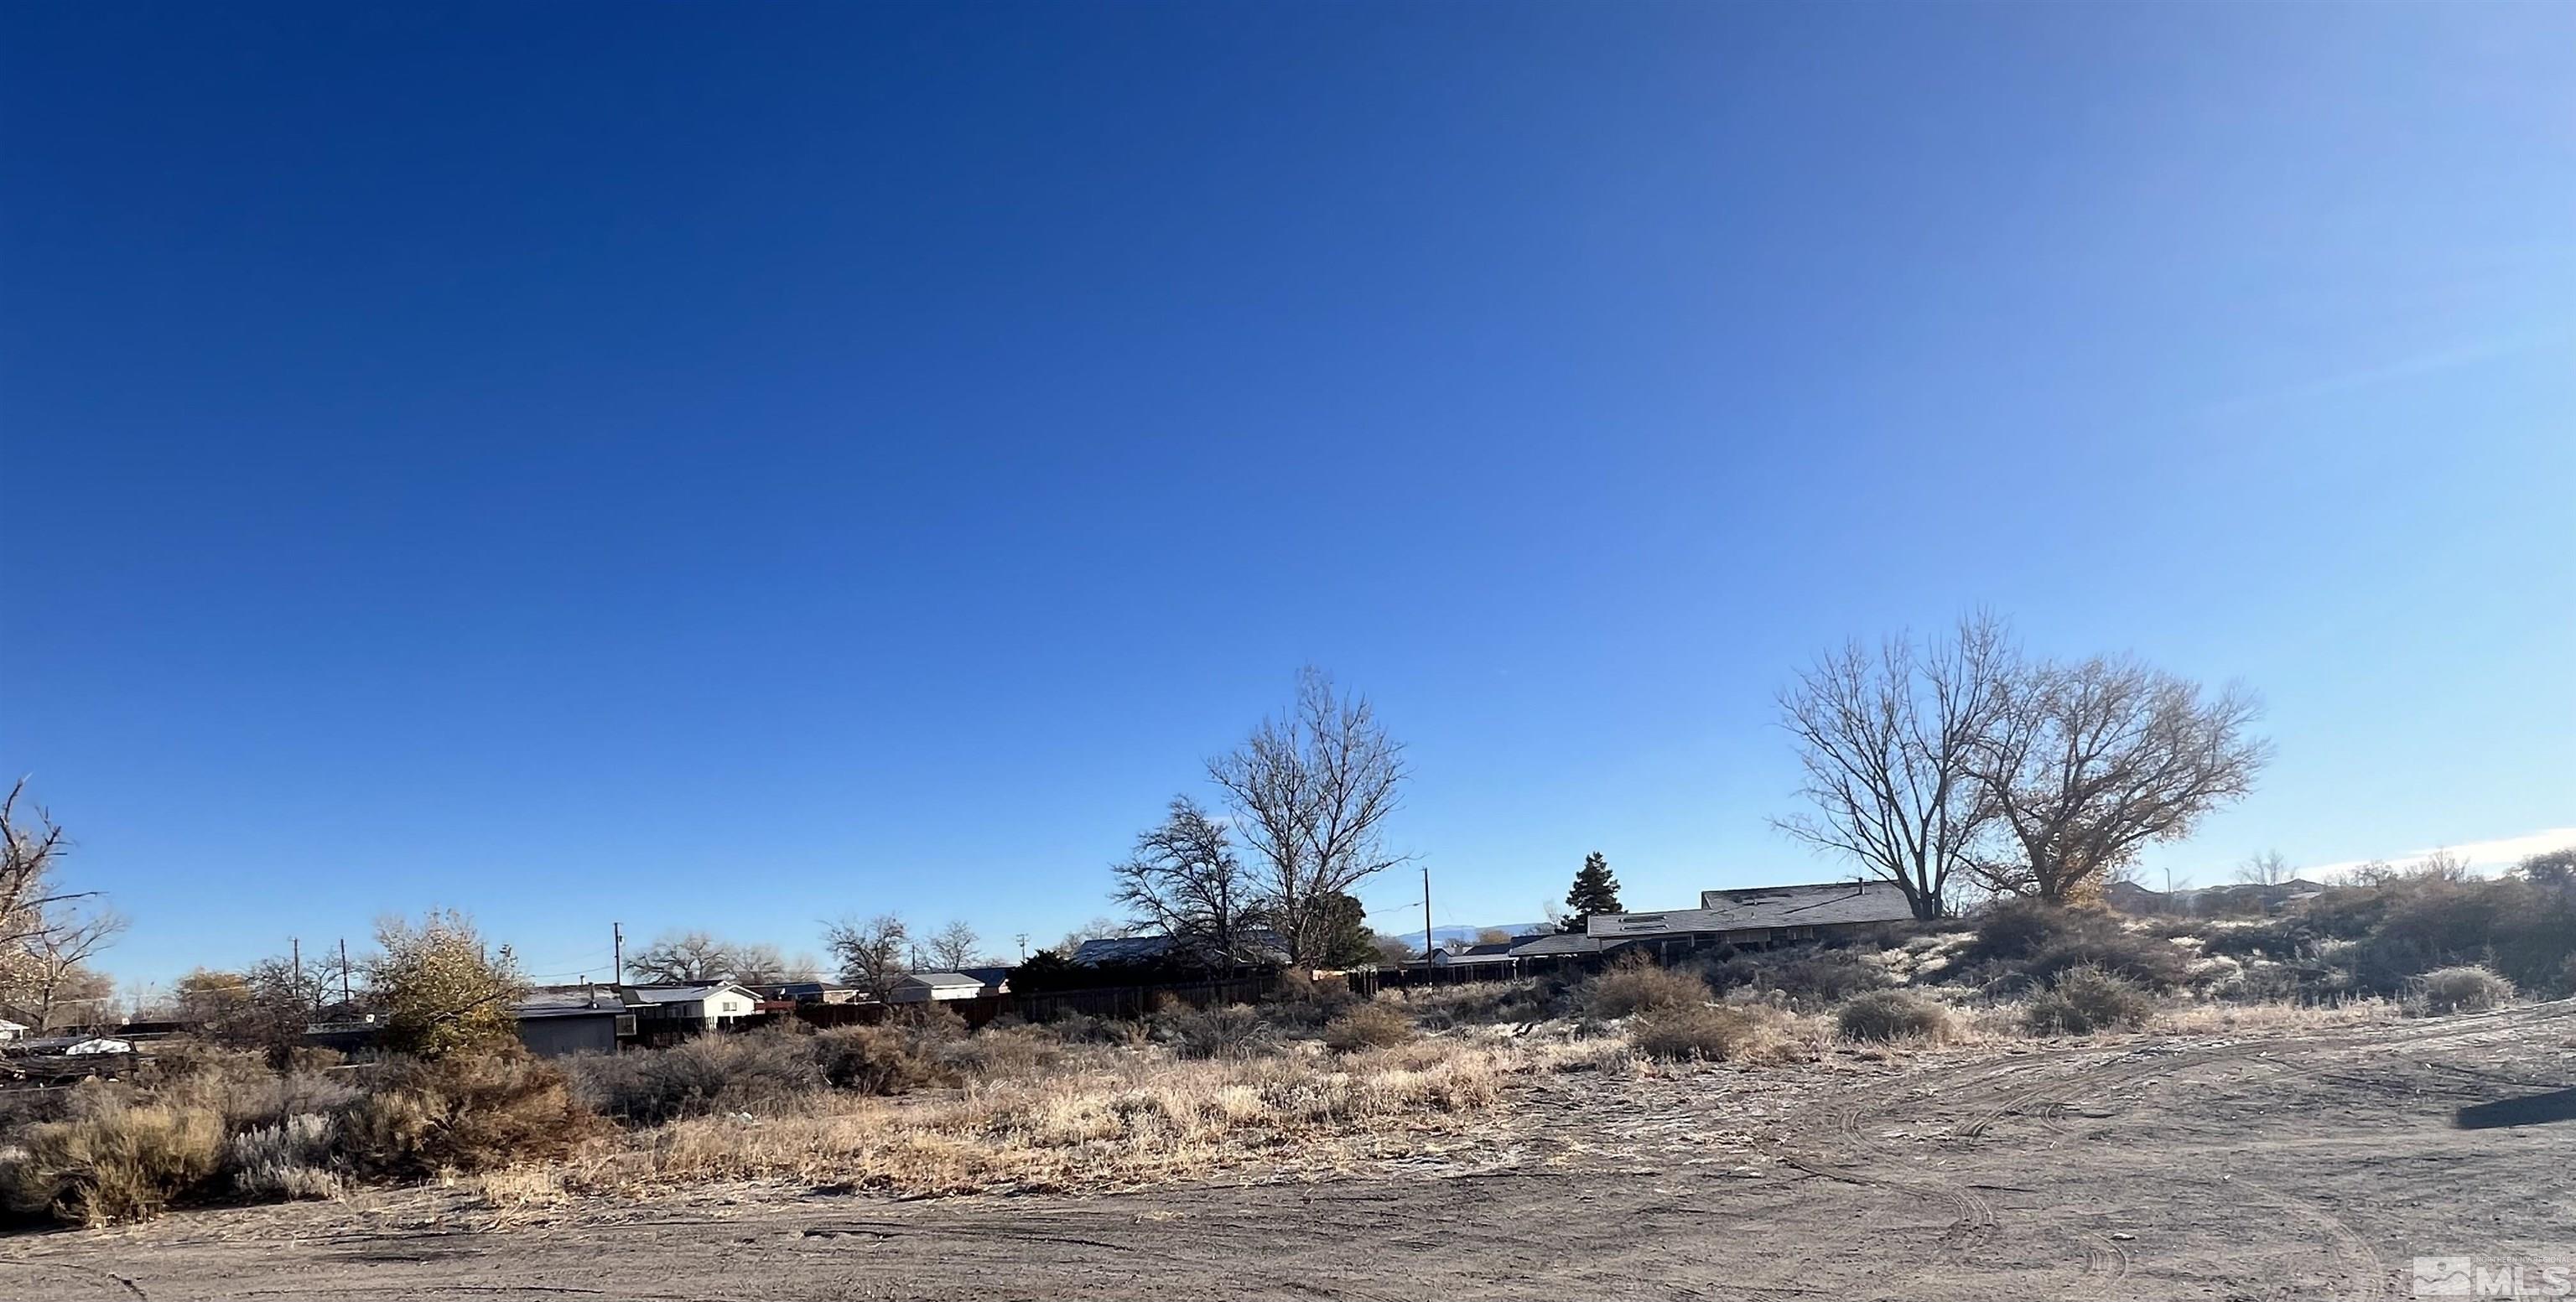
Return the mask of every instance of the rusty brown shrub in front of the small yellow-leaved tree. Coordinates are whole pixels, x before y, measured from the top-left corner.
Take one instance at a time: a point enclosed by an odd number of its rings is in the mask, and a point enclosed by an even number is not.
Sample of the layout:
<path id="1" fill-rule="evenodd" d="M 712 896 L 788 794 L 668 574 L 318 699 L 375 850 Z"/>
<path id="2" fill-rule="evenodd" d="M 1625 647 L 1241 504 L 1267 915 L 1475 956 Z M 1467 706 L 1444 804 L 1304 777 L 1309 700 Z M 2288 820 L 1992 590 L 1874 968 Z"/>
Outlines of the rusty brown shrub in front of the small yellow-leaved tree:
<path id="1" fill-rule="evenodd" d="M 562 1158 L 600 1119 L 526 1052 L 448 1052 L 379 1063 L 340 1124 L 361 1173 L 412 1178 Z"/>

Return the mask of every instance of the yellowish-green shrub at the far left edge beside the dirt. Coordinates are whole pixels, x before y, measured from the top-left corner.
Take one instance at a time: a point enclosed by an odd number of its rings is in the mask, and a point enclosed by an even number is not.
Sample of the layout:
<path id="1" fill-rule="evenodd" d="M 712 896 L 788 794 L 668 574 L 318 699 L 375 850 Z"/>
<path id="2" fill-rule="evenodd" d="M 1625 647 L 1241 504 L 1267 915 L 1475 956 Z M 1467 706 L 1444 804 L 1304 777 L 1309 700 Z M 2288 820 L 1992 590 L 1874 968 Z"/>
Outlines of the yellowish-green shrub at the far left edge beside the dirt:
<path id="1" fill-rule="evenodd" d="M 70 1225 L 147 1220 L 214 1181 L 224 1163 L 219 1112 L 93 1086 L 106 1081 L 85 1081 L 64 1119 L 26 1127 L 0 1158 L 10 1212 Z"/>

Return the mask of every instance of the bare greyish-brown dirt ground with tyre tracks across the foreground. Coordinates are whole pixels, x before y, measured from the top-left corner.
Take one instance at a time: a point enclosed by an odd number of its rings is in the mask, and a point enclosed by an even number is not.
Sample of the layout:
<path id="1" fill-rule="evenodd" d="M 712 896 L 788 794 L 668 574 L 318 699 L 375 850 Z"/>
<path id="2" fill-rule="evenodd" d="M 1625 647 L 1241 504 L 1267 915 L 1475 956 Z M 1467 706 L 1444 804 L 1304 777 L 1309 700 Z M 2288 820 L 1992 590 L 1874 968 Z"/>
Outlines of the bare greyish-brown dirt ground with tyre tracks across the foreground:
<path id="1" fill-rule="evenodd" d="M 1453 1153 L 1321 1184 L 505 1212 L 412 1189 L 0 1240 L 0 1297 L 2406 1297 L 2411 1256 L 2576 1258 L 2571 1086 L 2566 1001 L 1566 1073 Z"/>

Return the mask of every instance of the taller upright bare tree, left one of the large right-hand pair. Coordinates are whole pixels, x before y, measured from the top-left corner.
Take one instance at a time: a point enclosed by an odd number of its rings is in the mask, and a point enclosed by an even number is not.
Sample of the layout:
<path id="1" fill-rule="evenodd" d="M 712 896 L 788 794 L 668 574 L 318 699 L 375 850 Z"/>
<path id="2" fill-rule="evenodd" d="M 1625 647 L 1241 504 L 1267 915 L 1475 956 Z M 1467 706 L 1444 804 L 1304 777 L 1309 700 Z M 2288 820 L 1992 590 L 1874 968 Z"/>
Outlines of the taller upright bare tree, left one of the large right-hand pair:
<path id="1" fill-rule="evenodd" d="M 1896 883 L 1917 919 L 1950 906 L 1994 808 L 1976 751 L 1994 731 L 2012 648 L 1991 615 L 1968 615 L 1922 646 L 1899 633 L 1865 651 L 1826 654 L 1780 692 L 1780 726 L 1798 741 L 1816 808 L 1780 831 Z"/>

